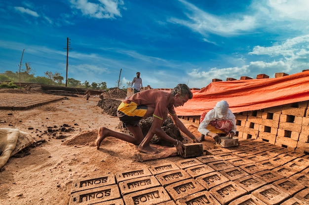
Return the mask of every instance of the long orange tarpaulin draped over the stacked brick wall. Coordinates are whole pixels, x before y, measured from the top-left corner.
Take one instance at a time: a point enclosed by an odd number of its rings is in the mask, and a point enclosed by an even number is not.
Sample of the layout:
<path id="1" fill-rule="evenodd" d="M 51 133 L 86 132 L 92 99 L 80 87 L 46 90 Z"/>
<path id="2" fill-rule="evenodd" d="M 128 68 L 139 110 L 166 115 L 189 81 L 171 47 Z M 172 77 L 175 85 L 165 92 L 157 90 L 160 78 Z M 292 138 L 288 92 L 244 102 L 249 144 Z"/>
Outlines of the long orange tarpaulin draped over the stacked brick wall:
<path id="1" fill-rule="evenodd" d="M 233 113 L 309 100 L 309 71 L 277 78 L 212 82 L 193 90 L 193 98 L 176 107 L 178 116 L 197 116 L 225 100 Z"/>

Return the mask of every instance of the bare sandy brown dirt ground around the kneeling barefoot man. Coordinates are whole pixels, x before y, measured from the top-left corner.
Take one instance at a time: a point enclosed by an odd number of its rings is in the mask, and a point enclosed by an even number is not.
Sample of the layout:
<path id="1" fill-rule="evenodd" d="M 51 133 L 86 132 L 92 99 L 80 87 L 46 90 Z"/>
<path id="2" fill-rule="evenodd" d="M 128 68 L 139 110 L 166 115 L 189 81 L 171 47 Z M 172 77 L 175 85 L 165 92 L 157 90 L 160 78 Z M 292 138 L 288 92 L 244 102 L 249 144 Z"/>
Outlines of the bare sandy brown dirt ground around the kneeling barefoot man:
<path id="1" fill-rule="evenodd" d="M 0 89 L 3 92 L 11 93 Z M 0 128 L 20 129 L 35 141 L 1 168 L 1 205 L 68 205 L 73 180 L 183 159 L 176 156 L 138 162 L 137 146 L 113 137 L 105 138 L 97 150 L 94 140 L 100 126 L 119 131 L 118 118 L 97 106 L 100 100 L 66 97 L 27 110 L 0 110 Z M 183 122 L 199 136 L 196 124 Z M 207 148 L 213 148 L 212 143 L 211 139 L 203 141 Z"/>

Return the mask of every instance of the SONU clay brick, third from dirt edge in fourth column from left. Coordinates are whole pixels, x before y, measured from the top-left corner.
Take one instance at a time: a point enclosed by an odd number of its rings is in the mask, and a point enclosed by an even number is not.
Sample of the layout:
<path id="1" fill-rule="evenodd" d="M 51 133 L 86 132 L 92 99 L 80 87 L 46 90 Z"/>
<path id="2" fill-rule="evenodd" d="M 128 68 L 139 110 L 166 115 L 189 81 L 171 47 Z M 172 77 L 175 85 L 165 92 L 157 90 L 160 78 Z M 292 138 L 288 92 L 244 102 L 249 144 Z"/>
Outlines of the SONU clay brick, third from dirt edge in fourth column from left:
<path id="1" fill-rule="evenodd" d="M 211 188 L 222 184 L 224 182 L 229 181 L 227 177 L 222 175 L 218 171 L 214 171 L 211 173 L 207 173 L 204 175 L 201 175 L 195 179 L 199 184 L 201 184 L 207 191 L 209 191 Z"/>

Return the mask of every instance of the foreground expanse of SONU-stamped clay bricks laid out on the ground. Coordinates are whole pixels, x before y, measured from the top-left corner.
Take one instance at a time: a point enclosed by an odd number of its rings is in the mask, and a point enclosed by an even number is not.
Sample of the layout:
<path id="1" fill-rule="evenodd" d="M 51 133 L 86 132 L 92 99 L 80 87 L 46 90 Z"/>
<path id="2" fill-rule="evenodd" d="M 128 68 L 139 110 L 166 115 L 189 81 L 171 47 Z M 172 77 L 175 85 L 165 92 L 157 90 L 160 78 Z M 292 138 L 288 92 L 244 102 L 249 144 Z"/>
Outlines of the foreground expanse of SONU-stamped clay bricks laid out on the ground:
<path id="1" fill-rule="evenodd" d="M 175 163 L 76 179 L 69 205 L 305 205 L 308 158 L 243 139 Z"/>

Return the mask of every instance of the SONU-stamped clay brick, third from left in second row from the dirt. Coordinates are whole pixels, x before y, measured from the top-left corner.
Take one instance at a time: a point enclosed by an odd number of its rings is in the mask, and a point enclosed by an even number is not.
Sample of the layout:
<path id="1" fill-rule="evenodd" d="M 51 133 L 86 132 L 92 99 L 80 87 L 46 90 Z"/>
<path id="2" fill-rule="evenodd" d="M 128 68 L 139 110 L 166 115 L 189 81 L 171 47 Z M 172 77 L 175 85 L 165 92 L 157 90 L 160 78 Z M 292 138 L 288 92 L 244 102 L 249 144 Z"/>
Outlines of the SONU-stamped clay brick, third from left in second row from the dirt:
<path id="1" fill-rule="evenodd" d="M 155 177 L 164 187 L 169 184 L 191 178 L 191 176 L 184 170 L 167 171 L 157 174 Z"/>

